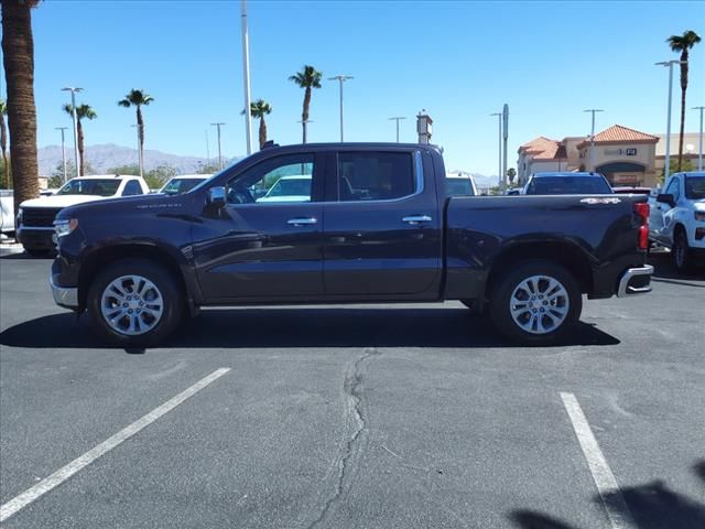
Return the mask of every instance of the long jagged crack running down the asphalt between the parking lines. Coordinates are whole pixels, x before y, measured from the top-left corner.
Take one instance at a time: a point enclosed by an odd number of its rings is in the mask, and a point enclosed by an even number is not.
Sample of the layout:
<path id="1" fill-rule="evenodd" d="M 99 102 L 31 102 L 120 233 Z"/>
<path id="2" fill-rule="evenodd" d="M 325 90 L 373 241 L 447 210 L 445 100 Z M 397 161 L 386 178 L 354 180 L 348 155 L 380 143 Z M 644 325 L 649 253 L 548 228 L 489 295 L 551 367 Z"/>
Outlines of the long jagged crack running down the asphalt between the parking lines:
<path id="1" fill-rule="evenodd" d="M 349 435 L 347 442 L 345 443 L 345 450 L 343 451 L 343 456 L 338 460 L 338 476 L 336 478 L 335 490 L 333 495 L 326 500 L 325 506 L 323 507 L 318 517 L 308 526 L 308 529 L 313 529 L 318 523 L 321 523 L 328 512 L 330 512 L 333 506 L 343 496 L 346 477 L 351 467 L 351 461 L 355 455 L 355 449 L 358 444 L 358 440 L 362 432 L 365 431 L 366 421 L 365 421 L 365 412 L 362 411 L 362 397 L 360 386 L 362 384 L 362 376 L 360 373 L 360 366 L 362 363 L 373 356 L 379 355 L 375 347 L 368 347 L 364 350 L 362 355 L 355 360 L 346 370 L 345 378 L 343 379 L 343 392 L 345 395 L 345 406 L 346 406 L 346 419 L 352 419 L 354 429 L 351 434 Z"/>

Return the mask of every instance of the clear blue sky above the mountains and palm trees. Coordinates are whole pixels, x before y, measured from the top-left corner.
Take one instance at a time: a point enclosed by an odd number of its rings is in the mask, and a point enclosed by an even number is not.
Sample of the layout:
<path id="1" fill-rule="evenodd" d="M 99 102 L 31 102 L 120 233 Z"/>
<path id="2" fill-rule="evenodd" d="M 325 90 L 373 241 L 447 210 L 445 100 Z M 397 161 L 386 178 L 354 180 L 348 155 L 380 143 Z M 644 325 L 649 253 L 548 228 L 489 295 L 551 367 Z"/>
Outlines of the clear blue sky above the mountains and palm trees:
<path id="1" fill-rule="evenodd" d="M 665 39 L 705 36 L 705 2 L 248 2 L 252 97 L 271 102 L 270 138 L 301 141 L 303 90 L 288 80 L 304 64 L 354 75 L 345 87 L 346 140 L 393 141 L 390 116 L 406 116 L 402 141 L 415 141 L 414 116 L 434 119 L 433 142 L 447 169 L 495 174 L 497 121 L 510 106 L 510 166 L 536 136 L 589 132 L 585 108 L 614 123 L 665 129 L 666 71 L 676 58 Z M 245 153 L 239 2 L 52 1 L 33 13 L 39 144 L 58 143 L 62 86 L 85 88 L 79 101 L 98 119 L 87 144 L 134 145 L 134 112 L 117 106 L 130 88 L 155 102 L 144 110 L 145 148 L 217 155 Z M 4 87 L 3 87 L 4 89 Z M 674 77 L 674 130 L 680 90 Z M 705 105 L 705 43 L 692 54 L 688 108 Z M 337 84 L 315 90 L 310 141 L 337 141 Z M 687 111 L 686 130 L 697 130 Z M 253 122 L 257 138 L 257 122 Z M 254 140 L 257 141 L 257 139 Z M 70 144 L 70 142 L 69 142 Z"/>

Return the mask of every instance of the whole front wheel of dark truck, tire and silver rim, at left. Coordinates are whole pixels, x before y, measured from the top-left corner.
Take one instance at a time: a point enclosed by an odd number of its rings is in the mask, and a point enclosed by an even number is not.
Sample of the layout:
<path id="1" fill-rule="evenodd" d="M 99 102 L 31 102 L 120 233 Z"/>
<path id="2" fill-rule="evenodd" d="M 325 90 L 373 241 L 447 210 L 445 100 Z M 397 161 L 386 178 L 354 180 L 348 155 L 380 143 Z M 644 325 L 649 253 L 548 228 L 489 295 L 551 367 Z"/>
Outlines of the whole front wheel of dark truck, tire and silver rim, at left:
<path id="1" fill-rule="evenodd" d="M 183 300 L 167 269 L 147 259 L 123 259 L 98 272 L 86 305 L 101 339 L 133 347 L 166 338 L 184 315 Z"/>

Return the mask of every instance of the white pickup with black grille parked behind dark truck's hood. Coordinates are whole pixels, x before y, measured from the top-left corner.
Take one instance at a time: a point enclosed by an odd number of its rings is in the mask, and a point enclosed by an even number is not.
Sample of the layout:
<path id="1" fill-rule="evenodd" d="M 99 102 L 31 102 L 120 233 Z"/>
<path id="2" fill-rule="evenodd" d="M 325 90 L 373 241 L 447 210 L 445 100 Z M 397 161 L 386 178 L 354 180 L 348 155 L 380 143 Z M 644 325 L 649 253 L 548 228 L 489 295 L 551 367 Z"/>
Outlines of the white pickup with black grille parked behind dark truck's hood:
<path id="1" fill-rule="evenodd" d="M 139 176 L 106 174 L 72 179 L 53 195 L 20 204 L 15 223 L 18 240 L 32 256 L 50 255 L 54 251 L 54 218 L 64 207 L 147 193 L 149 187 Z"/>

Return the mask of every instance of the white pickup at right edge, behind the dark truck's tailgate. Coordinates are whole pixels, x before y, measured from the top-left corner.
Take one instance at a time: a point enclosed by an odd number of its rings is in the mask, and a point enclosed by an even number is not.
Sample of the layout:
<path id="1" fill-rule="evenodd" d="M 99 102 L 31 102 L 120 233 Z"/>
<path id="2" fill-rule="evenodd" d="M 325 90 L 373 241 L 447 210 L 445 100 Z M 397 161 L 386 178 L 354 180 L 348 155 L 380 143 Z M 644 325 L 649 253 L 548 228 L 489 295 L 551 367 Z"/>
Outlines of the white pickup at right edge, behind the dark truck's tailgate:
<path id="1" fill-rule="evenodd" d="M 649 239 L 671 248 L 675 269 L 705 264 L 705 172 L 671 175 L 649 203 Z"/>

